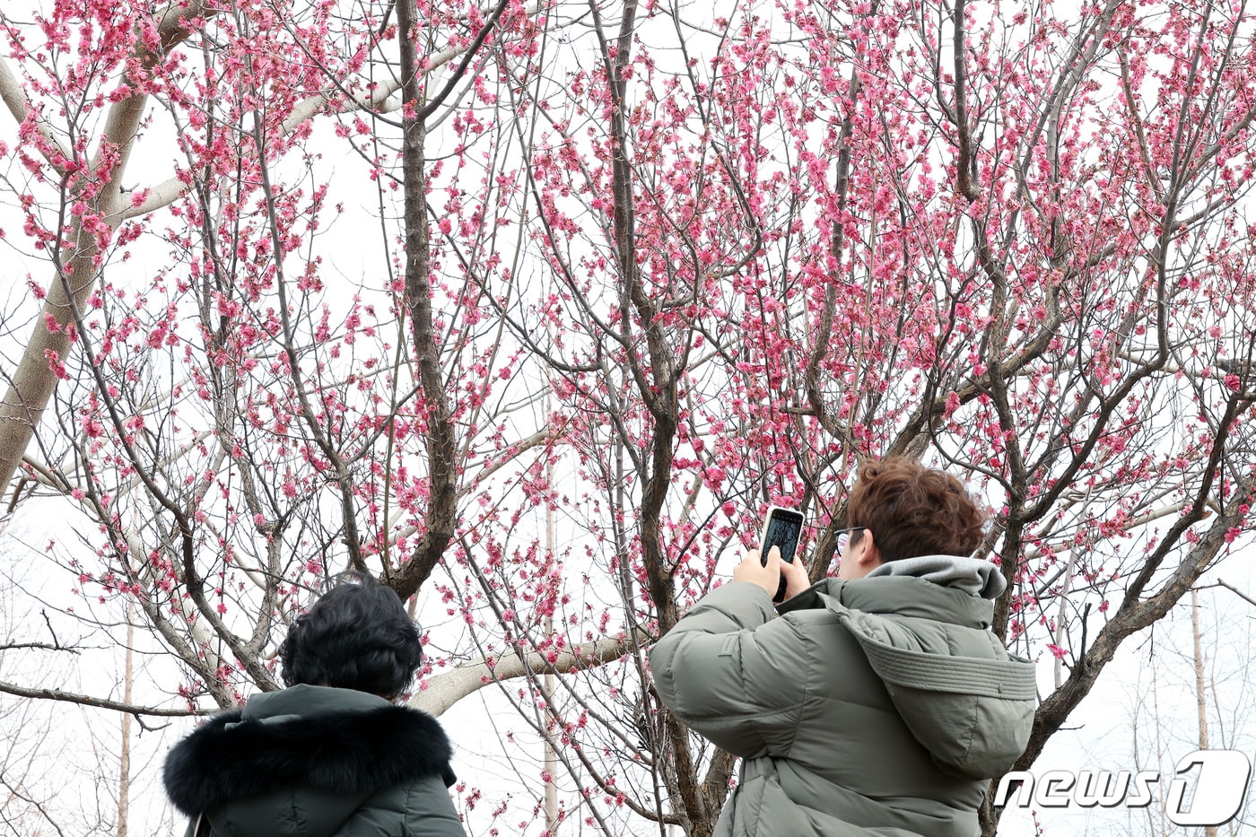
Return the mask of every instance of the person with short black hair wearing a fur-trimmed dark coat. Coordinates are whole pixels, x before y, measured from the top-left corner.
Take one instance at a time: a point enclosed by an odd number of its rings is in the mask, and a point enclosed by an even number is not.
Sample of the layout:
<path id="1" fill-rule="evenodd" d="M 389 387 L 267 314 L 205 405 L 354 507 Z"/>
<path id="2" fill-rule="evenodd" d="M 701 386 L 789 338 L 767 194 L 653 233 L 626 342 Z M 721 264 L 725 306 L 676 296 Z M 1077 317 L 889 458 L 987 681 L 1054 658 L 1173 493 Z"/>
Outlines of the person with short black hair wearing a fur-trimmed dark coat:
<path id="1" fill-rule="evenodd" d="M 369 576 L 289 627 L 281 691 L 215 715 L 166 759 L 187 837 L 466 837 L 435 718 L 397 705 L 423 656 L 418 626 Z"/>

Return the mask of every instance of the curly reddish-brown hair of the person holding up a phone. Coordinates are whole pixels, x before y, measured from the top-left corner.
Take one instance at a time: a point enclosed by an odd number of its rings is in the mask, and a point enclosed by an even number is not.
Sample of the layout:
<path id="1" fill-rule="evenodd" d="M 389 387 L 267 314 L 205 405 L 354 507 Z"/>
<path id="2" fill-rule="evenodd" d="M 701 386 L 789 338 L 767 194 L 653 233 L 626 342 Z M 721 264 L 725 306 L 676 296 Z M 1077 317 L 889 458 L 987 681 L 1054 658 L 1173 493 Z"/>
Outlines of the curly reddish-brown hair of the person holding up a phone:
<path id="1" fill-rule="evenodd" d="M 847 525 L 872 529 L 882 562 L 971 555 L 985 523 L 986 513 L 960 480 L 906 456 L 864 462 L 847 513 Z"/>

